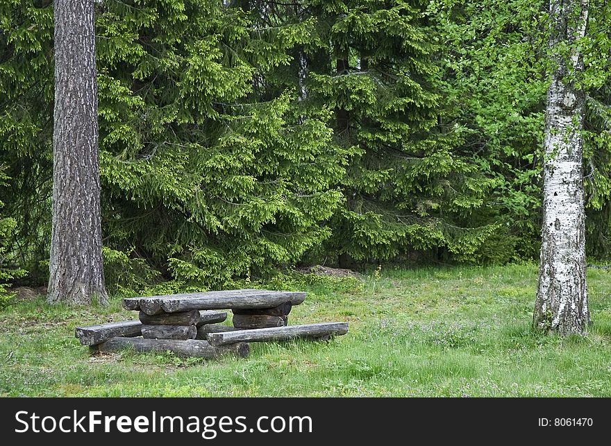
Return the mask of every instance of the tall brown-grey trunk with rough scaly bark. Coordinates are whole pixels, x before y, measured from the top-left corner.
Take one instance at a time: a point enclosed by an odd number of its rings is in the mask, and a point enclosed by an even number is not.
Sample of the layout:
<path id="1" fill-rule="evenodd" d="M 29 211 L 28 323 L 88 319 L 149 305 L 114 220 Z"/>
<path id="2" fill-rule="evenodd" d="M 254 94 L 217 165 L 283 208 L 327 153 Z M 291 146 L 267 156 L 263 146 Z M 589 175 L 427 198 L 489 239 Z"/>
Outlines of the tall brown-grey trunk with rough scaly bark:
<path id="1" fill-rule="evenodd" d="M 93 0 L 55 0 L 49 302 L 108 302 L 100 223 Z"/>

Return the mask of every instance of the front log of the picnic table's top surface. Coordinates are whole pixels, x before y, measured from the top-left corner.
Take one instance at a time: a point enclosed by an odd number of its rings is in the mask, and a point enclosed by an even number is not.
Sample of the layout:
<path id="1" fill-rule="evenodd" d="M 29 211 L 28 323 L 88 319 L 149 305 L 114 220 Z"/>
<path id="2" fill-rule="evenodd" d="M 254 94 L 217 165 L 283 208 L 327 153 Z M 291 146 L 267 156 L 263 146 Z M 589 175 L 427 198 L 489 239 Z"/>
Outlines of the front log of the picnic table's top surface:
<path id="1" fill-rule="evenodd" d="M 192 309 L 272 308 L 287 301 L 299 305 L 303 300 L 305 293 L 299 291 L 249 291 L 240 295 L 201 293 L 196 297 L 162 299 L 160 305 L 168 313 L 174 313 Z"/>

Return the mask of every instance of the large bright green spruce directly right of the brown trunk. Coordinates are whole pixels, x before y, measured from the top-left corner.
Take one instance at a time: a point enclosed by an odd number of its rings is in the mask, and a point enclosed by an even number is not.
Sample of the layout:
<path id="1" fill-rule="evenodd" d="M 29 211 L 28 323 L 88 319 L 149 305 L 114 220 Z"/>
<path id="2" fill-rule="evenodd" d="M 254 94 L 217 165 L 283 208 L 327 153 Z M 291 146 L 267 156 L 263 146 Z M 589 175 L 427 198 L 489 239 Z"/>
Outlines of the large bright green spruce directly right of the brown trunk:
<path id="1" fill-rule="evenodd" d="M 260 27 L 216 2 L 105 3 L 98 21 L 107 246 L 223 286 L 330 233 L 344 153 L 328 110 L 267 88 L 305 24 Z M 331 147 L 331 148 L 330 148 Z M 153 225 L 151 225 L 153 222 Z"/>

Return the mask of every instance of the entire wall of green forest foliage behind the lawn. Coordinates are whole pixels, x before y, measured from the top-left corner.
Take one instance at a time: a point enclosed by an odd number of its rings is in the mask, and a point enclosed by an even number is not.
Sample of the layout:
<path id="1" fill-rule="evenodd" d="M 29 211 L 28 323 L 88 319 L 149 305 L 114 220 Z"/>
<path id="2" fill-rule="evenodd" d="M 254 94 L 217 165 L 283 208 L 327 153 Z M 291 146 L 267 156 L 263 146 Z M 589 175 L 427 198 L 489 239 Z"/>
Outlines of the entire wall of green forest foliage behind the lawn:
<path id="1" fill-rule="evenodd" d="M 300 262 L 537 257 L 542 0 L 226 3 L 96 2 L 113 292 L 237 286 Z M 591 9 L 579 82 L 587 246 L 603 259 L 611 7 Z M 2 256 L 32 282 L 48 273 L 52 49 L 51 1 L 0 4 Z"/>

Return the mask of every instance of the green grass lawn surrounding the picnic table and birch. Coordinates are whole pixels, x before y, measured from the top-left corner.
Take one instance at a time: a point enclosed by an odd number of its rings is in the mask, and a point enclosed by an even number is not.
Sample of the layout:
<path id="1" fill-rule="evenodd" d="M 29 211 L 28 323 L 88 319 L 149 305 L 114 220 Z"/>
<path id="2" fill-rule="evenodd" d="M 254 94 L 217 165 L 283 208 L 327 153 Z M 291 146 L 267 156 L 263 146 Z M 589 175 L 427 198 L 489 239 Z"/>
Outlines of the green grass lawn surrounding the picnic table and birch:
<path id="1" fill-rule="evenodd" d="M 611 273 L 588 271 L 594 325 L 564 339 L 530 329 L 536 280 L 535 265 L 303 276 L 290 287 L 308 297 L 289 323 L 346 320 L 348 334 L 214 361 L 90 356 L 74 327 L 135 318 L 118 298 L 106 309 L 15 302 L 0 312 L 0 395 L 611 396 Z"/>

